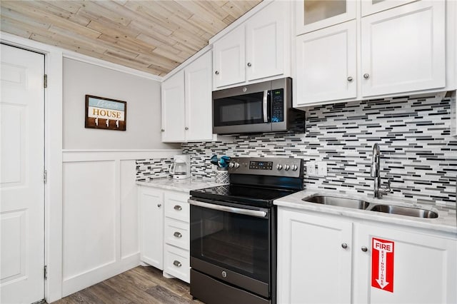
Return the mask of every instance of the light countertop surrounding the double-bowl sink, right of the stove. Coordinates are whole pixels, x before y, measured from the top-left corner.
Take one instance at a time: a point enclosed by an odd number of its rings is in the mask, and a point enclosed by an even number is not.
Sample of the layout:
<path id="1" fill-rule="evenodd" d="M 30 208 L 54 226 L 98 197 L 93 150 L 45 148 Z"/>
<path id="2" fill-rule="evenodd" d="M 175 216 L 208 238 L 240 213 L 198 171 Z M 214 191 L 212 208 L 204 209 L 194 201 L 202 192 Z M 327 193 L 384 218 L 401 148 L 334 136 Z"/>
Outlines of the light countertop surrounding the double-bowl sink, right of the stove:
<path id="1" fill-rule="evenodd" d="M 344 208 L 338 206 L 323 205 L 320 203 L 309 203 L 302 201 L 302 198 L 321 195 L 321 196 L 340 196 L 343 198 L 356 198 L 369 203 L 379 203 L 384 205 L 407 206 L 413 208 L 423 208 L 430 211 L 438 212 L 438 218 L 415 218 L 412 216 L 399 216 L 389 213 L 381 213 L 375 211 L 359 210 L 355 208 Z M 378 221 L 383 223 L 393 223 L 402 226 L 421 228 L 427 230 L 436 230 L 446 233 L 454 233 L 457 237 L 457 218 L 456 209 L 446 208 L 442 206 L 430 206 L 426 204 L 413 203 L 413 201 L 404 200 L 401 198 L 370 198 L 366 195 L 347 194 L 341 191 L 323 191 L 321 189 L 306 189 L 285 196 L 274 201 L 277 206 L 288 208 L 296 208 L 308 211 L 317 211 L 326 214 L 339 216 L 347 216 L 349 218 L 360 218 L 363 220 Z"/>

